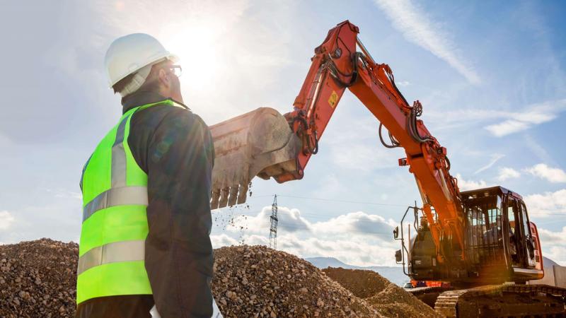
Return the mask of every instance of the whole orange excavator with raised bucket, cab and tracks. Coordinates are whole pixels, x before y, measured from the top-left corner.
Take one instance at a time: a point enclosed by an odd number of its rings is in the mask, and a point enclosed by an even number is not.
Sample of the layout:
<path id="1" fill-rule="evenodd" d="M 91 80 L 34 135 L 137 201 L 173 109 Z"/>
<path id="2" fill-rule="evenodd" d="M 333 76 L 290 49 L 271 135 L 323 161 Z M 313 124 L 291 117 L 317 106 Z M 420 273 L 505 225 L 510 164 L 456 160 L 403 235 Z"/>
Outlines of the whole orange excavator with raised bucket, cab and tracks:
<path id="1" fill-rule="evenodd" d="M 245 202 L 255 176 L 301 179 L 348 89 L 379 120 L 381 143 L 405 150 L 399 165 L 409 167 L 420 192 L 422 206 L 410 206 L 393 231 L 401 242 L 395 259 L 412 280 L 446 284 L 415 295 L 447 317 L 566 314 L 566 289 L 526 284 L 544 272 L 538 231 L 521 196 L 503 187 L 460 192 L 446 148 L 419 119 L 422 104 L 405 100 L 390 67 L 371 57 L 358 33 L 347 20 L 328 32 L 291 112 L 262 107 L 211 126 L 212 208 Z M 409 212 L 417 234 L 406 239 Z"/>

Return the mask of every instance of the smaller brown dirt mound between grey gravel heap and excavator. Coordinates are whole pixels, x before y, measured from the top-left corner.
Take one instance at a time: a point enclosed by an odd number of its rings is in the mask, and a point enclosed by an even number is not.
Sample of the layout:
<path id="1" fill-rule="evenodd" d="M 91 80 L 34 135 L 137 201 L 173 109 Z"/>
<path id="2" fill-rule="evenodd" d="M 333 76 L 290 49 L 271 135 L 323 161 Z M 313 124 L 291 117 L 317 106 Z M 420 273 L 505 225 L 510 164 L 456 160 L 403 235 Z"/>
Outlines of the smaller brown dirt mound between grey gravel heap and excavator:
<path id="1" fill-rule="evenodd" d="M 374 271 L 331 268 L 323 272 L 386 317 L 441 317 L 431 307 Z"/>

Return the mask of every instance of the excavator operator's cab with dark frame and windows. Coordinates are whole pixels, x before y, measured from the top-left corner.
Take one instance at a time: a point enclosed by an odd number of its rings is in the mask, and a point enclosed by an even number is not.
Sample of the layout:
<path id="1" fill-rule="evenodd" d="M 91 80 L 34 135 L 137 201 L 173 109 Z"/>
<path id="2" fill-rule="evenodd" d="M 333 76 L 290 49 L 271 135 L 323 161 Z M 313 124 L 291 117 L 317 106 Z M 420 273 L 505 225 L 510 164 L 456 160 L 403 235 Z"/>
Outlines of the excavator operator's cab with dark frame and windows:
<path id="1" fill-rule="evenodd" d="M 478 274 L 519 282 L 542 278 L 538 232 L 519 194 L 491 187 L 461 192 L 461 198 L 470 242 L 466 257 Z"/>

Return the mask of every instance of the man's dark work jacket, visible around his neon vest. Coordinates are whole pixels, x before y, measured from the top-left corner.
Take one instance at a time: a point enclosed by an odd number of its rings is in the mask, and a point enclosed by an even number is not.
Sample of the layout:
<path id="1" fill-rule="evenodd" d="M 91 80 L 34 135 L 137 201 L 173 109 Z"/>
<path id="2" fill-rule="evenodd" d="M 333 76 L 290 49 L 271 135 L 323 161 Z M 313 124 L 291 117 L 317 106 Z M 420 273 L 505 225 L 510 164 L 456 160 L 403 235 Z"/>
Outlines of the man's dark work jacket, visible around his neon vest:
<path id="1" fill-rule="evenodd" d="M 165 100 L 150 92 L 122 99 L 123 112 Z M 93 298 L 80 318 L 211 317 L 210 192 L 214 145 L 208 126 L 180 107 L 156 105 L 134 113 L 128 136 L 137 164 L 148 175 L 145 264 L 153 295 Z"/>

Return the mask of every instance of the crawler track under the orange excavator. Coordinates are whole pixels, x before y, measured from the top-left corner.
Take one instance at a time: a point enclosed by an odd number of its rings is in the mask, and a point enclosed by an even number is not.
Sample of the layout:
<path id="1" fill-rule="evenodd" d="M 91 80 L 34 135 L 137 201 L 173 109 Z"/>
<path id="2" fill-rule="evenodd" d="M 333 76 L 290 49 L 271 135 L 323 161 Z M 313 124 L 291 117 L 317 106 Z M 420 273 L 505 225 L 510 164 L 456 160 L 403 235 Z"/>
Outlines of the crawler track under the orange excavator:
<path id="1" fill-rule="evenodd" d="M 446 317 L 566 317 L 566 288 L 486 285 L 441 293 L 434 310 Z"/>

